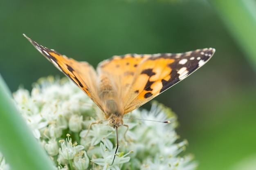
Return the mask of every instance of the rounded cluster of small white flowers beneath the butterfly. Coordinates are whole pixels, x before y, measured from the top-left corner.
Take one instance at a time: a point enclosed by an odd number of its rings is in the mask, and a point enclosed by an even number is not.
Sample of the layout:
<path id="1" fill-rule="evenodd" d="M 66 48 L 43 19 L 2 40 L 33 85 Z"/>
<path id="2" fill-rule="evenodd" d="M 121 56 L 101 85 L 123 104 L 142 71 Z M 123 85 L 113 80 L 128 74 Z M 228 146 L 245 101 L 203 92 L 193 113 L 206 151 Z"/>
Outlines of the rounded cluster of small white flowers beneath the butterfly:
<path id="1" fill-rule="evenodd" d="M 156 102 L 150 111 L 137 109 L 125 115 L 128 128 L 118 129 L 119 148 L 112 164 L 117 144 L 115 129 L 108 126 L 108 121 L 101 122 L 102 111 L 72 82 L 42 78 L 31 93 L 20 89 L 13 96 L 34 136 L 54 160 L 56 170 L 193 170 L 197 166 L 191 156 L 178 156 L 187 142 L 175 144 L 176 117 Z M 88 132 L 93 122 L 98 124 Z M 1 157 L 0 169 L 4 166 L 7 164 Z"/>

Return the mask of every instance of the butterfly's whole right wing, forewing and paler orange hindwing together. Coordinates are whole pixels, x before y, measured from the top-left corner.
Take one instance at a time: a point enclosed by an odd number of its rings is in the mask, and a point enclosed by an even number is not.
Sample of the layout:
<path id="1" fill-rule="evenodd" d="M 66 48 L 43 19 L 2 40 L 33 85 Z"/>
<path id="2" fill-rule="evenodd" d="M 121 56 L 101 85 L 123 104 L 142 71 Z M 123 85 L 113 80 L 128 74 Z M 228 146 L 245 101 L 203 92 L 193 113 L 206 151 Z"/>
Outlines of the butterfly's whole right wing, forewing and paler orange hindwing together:
<path id="1" fill-rule="evenodd" d="M 112 82 L 117 97 L 129 113 L 180 82 L 204 65 L 215 49 L 186 53 L 114 56 L 97 67 Z"/>

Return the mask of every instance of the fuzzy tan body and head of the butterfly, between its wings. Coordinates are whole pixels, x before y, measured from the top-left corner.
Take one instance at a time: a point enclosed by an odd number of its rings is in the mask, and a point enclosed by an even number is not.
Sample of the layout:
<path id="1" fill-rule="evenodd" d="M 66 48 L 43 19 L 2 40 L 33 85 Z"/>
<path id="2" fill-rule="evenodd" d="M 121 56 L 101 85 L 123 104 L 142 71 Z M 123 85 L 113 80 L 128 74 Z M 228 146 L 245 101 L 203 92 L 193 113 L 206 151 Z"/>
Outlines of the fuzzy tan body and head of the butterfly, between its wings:
<path id="1" fill-rule="evenodd" d="M 111 127 L 119 127 L 124 124 L 124 108 L 121 99 L 117 95 L 117 90 L 112 81 L 106 76 L 100 76 L 99 98 L 108 124 Z"/>

